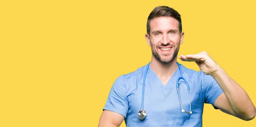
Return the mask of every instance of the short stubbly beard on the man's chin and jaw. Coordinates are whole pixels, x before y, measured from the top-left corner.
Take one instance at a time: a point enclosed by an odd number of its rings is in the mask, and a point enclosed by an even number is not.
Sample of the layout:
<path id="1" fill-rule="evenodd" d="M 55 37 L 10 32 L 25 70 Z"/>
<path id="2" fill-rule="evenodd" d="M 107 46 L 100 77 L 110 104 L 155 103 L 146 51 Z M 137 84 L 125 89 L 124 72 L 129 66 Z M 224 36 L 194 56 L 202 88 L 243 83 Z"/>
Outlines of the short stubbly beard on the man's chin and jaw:
<path id="1" fill-rule="evenodd" d="M 173 48 L 174 48 L 174 46 L 173 46 Z M 172 63 L 172 61 L 177 57 L 179 49 L 180 49 L 180 43 L 178 43 L 177 48 L 175 49 L 172 56 L 171 55 L 160 55 L 159 53 L 154 52 L 153 49 L 152 49 L 152 54 L 157 59 L 157 61 L 159 61 L 160 63 L 168 64 L 168 63 Z"/>

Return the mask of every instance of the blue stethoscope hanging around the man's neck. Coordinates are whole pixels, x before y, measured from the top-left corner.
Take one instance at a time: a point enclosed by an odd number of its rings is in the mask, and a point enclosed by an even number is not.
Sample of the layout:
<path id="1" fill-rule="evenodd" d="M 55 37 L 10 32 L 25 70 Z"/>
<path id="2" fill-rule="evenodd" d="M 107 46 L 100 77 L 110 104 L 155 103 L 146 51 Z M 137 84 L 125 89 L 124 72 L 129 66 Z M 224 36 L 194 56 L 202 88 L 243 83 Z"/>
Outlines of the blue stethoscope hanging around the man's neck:
<path id="1" fill-rule="evenodd" d="M 143 78 L 141 110 L 140 110 L 139 113 L 138 113 L 140 119 L 144 119 L 144 118 L 146 117 L 146 115 L 147 115 L 147 112 L 146 112 L 145 110 L 143 110 L 143 103 L 144 103 L 145 79 L 146 79 L 146 75 L 147 75 L 147 72 L 148 72 L 149 64 L 150 64 L 150 62 L 149 62 L 148 65 L 146 66 L 146 70 L 145 70 L 145 74 L 144 74 L 144 78 Z M 186 87 L 187 87 L 187 89 L 188 89 L 188 92 L 189 92 L 189 83 L 188 83 L 188 82 L 186 81 L 186 79 L 183 77 L 183 75 L 182 75 L 182 69 L 181 69 L 180 64 L 179 64 L 178 62 L 177 62 L 177 65 L 179 66 L 179 69 L 180 69 L 180 77 L 177 79 L 176 86 L 177 86 L 177 90 L 178 90 L 178 94 L 179 94 L 179 98 L 180 98 L 179 80 L 180 80 L 180 79 L 183 79 L 183 80 L 185 81 Z M 187 112 L 187 111 L 185 111 L 185 110 L 183 109 L 181 100 L 180 100 L 180 106 L 181 106 L 181 109 L 182 109 L 181 112 L 192 114 L 192 111 L 191 111 L 191 101 L 190 101 L 190 92 L 189 92 L 189 112 Z"/>

